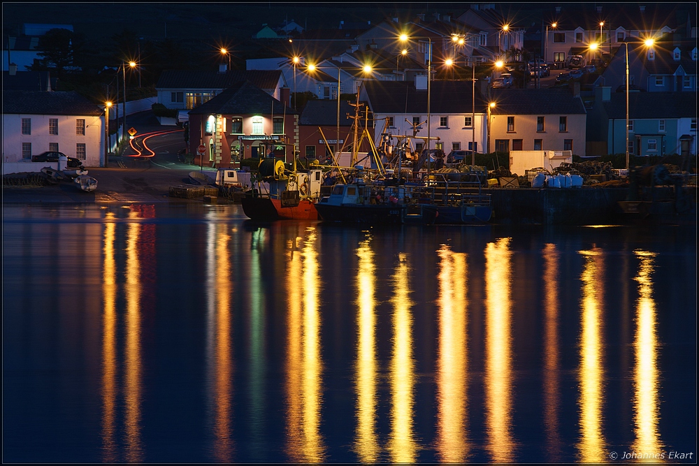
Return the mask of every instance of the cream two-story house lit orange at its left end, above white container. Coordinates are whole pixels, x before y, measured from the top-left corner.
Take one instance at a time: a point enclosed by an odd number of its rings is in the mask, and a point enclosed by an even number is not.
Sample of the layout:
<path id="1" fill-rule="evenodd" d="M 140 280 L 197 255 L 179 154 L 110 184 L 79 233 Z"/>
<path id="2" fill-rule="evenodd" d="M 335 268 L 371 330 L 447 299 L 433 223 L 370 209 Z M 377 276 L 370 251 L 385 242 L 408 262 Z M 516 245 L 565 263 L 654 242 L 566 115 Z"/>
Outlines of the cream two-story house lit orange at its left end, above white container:
<path id="1" fill-rule="evenodd" d="M 552 89 L 491 89 L 490 147 L 510 150 L 570 150 L 586 154 L 587 112 L 579 85 Z"/>

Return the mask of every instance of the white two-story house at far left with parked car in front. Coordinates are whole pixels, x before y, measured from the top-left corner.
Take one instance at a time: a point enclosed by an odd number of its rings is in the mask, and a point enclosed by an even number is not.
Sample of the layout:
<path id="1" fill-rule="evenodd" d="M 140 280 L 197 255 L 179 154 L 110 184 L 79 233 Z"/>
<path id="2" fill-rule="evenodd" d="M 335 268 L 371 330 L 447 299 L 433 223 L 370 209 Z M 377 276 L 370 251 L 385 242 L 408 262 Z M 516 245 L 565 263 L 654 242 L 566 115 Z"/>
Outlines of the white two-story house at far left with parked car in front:
<path id="1" fill-rule="evenodd" d="M 8 90 L 2 106 L 3 173 L 41 170 L 45 163 L 31 163 L 31 156 L 46 151 L 86 167 L 104 165 L 104 112 L 80 94 Z"/>

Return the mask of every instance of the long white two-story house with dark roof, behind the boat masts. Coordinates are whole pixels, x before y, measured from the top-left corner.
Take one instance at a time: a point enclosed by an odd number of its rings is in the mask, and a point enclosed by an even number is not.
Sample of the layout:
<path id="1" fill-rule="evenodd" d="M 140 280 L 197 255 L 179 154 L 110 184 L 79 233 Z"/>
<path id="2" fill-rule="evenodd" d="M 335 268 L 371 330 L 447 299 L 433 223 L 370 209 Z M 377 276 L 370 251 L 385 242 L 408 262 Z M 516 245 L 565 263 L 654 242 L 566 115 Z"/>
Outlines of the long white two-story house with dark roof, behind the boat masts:
<path id="1" fill-rule="evenodd" d="M 430 83 L 430 89 L 426 84 L 426 80 L 366 82 L 360 99 L 368 103 L 373 113 L 375 144 L 380 145 L 383 133 L 391 137 L 417 136 L 412 140 L 412 149 L 421 152 L 429 132 L 431 149 L 448 154 L 473 147 L 482 152 L 486 102 L 479 90 L 476 89 L 474 108 L 471 82 L 438 80 Z"/>

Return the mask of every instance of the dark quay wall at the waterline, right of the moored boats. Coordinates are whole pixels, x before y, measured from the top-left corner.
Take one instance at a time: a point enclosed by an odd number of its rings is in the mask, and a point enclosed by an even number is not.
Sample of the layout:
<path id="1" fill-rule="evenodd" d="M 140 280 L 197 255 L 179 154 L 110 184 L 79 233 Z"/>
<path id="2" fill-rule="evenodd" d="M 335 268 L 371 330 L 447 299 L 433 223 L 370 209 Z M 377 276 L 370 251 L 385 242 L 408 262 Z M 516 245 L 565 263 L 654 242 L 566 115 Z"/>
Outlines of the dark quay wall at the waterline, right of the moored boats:
<path id="1" fill-rule="evenodd" d="M 484 189 L 491 195 L 495 224 L 619 224 L 627 188 Z"/>

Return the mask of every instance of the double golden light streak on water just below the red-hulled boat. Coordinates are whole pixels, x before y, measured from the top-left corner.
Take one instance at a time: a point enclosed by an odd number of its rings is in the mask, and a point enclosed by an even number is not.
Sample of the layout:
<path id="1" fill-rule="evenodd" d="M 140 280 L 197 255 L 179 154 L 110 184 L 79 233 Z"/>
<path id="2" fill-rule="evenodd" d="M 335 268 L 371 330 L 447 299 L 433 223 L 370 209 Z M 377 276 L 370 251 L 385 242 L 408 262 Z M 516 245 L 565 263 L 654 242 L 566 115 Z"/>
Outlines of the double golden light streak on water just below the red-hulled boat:
<path id="1" fill-rule="evenodd" d="M 287 454 L 298 463 L 322 463 L 326 458 L 320 432 L 323 367 L 316 240 L 315 227 L 309 227 L 301 254 L 294 254 L 296 245 L 287 252 Z"/>

